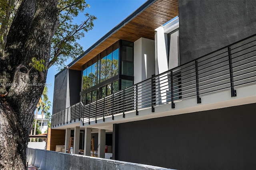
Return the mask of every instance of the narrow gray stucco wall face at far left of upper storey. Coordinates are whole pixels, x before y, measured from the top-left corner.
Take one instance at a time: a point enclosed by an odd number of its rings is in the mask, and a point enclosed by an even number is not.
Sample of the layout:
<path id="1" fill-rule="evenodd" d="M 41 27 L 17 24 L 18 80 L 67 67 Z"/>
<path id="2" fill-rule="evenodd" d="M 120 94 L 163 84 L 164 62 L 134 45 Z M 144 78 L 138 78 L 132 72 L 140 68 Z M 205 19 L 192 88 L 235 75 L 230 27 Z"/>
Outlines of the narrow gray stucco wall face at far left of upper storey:
<path id="1" fill-rule="evenodd" d="M 55 75 L 52 114 L 66 109 L 68 70 Z"/>

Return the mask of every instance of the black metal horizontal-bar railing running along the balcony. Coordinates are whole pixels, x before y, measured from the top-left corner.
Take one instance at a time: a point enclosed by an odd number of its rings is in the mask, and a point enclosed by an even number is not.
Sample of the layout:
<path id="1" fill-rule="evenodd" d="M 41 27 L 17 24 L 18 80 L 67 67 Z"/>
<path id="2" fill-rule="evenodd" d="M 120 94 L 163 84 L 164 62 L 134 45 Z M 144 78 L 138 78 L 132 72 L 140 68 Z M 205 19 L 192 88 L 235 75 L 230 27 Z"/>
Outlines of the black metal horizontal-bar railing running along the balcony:
<path id="1" fill-rule="evenodd" d="M 114 119 L 116 114 L 125 117 L 130 111 L 138 115 L 144 108 L 151 107 L 154 112 L 155 106 L 163 104 L 175 108 L 174 102 L 188 98 L 196 98 L 199 104 L 201 96 L 223 90 L 230 90 L 231 97 L 235 97 L 236 88 L 255 83 L 256 35 L 252 35 L 100 100 L 85 106 L 80 104 L 80 113 L 70 111 L 70 120 L 73 114 L 80 114 L 83 124 L 90 124 L 92 119 L 97 123 L 99 118 Z M 66 122 L 66 112 L 67 109 L 52 115 L 52 125 Z"/>

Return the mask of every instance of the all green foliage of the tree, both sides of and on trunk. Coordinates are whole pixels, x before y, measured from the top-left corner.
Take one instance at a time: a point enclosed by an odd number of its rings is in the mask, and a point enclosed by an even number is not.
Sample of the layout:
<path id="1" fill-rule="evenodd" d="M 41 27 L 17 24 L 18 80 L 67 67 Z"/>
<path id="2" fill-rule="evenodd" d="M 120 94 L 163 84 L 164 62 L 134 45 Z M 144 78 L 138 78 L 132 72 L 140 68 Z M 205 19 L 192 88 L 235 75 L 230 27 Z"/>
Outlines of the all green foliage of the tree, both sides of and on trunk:
<path id="1" fill-rule="evenodd" d="M 3 54 L 10 25 L 21 2 L 22 0 L 0 0 L 0 55 Z M 57 7 L 60 24 L 52 38 L 48 67 L 55 64 L 60 70 L 67 59 L 76 59 L 83 53 L 82 46 L 76 41 L 92 29 L 96 17 L 84 12 L 86 8 L 90 8 L 84 0 L 58 0 Z M 84 14 L 84 21 L 80 24 L 73 23 L 74 18 L 81 13 Z M 36 58 L 30 66 L 38 71 L 47 70 L 44 68 L 44 62 Z"/>

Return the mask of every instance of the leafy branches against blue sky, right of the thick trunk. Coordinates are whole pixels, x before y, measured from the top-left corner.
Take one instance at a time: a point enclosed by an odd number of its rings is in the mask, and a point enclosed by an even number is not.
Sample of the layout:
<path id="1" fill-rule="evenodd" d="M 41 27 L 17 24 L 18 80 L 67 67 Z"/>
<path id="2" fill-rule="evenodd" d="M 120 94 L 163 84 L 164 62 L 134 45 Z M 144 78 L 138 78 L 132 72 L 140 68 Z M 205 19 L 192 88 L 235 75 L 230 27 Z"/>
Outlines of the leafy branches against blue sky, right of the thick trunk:
<path id="1" fill-rule="evenodd" d="M 80 25 L 73 23 L 73 19 L 89 7 L 84 0 L 59 0 L 60 25 L 52 38 L 50 66 L 55 64 L 60 70 L 68 58 L 76 59 L 83 53 L 82 46 L 76 41 L 92 29 L 96 17 L 85 13 L 85 20 Z"/>

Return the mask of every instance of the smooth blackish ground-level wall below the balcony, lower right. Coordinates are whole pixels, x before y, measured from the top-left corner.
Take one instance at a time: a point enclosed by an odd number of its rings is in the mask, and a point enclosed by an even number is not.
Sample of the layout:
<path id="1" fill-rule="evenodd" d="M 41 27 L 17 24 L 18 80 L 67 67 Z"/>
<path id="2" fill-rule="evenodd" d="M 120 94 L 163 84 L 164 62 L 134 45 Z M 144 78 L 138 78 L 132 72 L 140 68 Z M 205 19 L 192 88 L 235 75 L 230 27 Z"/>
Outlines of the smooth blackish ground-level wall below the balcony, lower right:
<path id="1" fill-rule="evenodd" d="M 175 169 L 256 169 L 255 110 L 254 103 L 120 123 L 113 156 Z"/>

